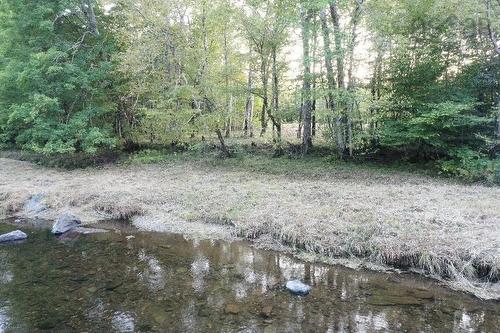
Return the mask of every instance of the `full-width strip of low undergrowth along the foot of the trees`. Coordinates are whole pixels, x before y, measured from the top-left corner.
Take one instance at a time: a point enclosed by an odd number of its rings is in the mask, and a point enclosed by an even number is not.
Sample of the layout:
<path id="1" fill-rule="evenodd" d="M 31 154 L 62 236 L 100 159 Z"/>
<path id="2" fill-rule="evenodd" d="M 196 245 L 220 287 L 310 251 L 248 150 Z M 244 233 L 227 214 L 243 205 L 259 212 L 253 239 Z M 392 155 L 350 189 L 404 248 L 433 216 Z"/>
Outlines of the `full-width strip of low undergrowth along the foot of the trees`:
<path id="1" fill-rule="evenodd" d="M 315 177 L 331 172 L 365 170 L 385 174 L 411 172 L 469 183 L 500 184 L 500 159 L 490 160 L 469 150 L 456 151 L 447 159 L 422 162 L 380 152 L 340 159 L 327 144 L 317 145 L 309 155 L 302 156 L 300 145 L 297 144 L 284 144 L 279 149 L 280 154 L 276 154 L 278 150 L 273 143 L 236 139 L 228 140 L 228 143 L 232 158 L 224 157 L 218 146 L 209 141 L 176 145 L 138 145 L 122 152 L 105 151 L 97 155 L 44 155 L 9 150 L 0 151 L 0 157 L 65 169 L 95 167 L 108 163 L 141 165 L 183 160 L 269 174 Z"/>

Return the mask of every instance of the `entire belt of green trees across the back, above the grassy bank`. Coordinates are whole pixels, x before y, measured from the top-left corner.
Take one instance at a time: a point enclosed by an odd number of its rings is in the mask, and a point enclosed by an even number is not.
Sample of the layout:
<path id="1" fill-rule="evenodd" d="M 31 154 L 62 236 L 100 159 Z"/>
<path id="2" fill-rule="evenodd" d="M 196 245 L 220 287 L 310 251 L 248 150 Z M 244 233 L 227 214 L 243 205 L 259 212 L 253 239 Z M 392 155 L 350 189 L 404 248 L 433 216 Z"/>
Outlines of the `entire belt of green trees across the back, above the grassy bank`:
<path id="1" fill-rule="evenodd" d="M 0 149 L 245 142 L 499 182 L 500 1 L 1 1 Z"/>

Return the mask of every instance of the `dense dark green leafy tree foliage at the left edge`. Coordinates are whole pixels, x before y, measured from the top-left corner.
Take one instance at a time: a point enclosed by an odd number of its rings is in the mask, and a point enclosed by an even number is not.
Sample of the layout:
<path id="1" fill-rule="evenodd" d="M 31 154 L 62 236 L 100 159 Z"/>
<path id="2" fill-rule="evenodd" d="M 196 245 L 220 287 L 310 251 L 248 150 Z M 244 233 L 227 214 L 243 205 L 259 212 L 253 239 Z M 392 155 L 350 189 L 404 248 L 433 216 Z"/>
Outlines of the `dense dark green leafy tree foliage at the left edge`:
<path id="1" fill-rule="evenodd" d="M 105 27 L 96 36 L 78 25 L 78 6 L 70 0 L 0 5 L 0 142 L 44 154 L 116 146 L 114 41 Z"/>

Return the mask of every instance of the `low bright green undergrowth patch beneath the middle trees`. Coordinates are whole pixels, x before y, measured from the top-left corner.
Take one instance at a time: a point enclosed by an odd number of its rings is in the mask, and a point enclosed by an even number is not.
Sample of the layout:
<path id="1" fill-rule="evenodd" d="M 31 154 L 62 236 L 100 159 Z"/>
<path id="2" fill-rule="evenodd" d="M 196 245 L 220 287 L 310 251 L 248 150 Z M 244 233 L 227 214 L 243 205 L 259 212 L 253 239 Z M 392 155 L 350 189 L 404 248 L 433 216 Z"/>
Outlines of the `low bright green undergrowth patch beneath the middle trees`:
<path id="1" fill-rule="evenodd" d="M 396 172 L 411 172 L 420 175 L 439 176 L 434 169 L 426 169 L 417 163 L 397 160 L 358 157 L 339 159 L 328 146 L 316 146 L 310 155 L 302 156 L 296 145 L 287 145 L 283 154 L 276 156 L 273 144 L 239 143 L 231 146 L 232 158 L 221 156 L 217 146 L 207 142 L 189 146 L 183 151 L 167 148 L 147 148 L 122 155 L 123 164 L 153 164 L 171 161 L 189 161 L 210 167 L 224 167 L 248 172 L 275 175 L 294 175 L 304 177 L 321 177 L 329 173 L 346 173 L 355 171 L 377 172 L 385 175 Z"/>

